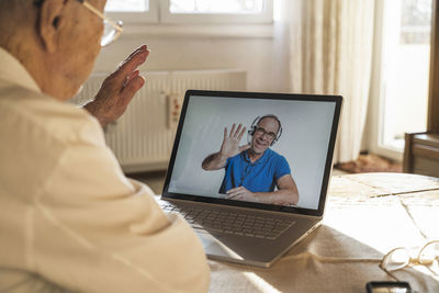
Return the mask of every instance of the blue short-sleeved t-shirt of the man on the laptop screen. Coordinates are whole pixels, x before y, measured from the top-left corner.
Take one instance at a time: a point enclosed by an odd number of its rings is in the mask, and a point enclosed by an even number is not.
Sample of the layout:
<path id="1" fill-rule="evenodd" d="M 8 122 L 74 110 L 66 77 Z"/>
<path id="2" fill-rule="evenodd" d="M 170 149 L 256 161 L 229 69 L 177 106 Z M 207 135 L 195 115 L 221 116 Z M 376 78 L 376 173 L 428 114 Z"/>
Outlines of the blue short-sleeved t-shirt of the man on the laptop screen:
<path id="1" fill-rule="evenodd" d="M 279 178 L 291 173 L 286 159 L 269 148 L 254 164 L 248 158 L 247 150 L 244 150 L 228 158 L 225 168 L 219 193 L 237 187 L 245 187 L 251 192 L 271 192 L 274 191 Z"/>

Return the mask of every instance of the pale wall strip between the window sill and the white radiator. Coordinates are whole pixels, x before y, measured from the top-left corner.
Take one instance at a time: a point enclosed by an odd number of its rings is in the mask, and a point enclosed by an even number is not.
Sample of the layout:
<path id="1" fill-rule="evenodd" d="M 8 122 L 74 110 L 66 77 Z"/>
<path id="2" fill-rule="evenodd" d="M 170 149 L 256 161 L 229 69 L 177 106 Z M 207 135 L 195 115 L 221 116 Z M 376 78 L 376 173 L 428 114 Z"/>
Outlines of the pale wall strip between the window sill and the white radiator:
<path id="1" fill-rule="evenodd" d="M 228 33 L 230 27 L 234 25 L 213 26 L 212 36 L 192 32 L 191 26 L 184 34 L 167 29 L 162 35 L 154 25 L 136 33 L 127 27 L 117 42 L 101 50 L 94 71 L 111 72 L 133 49 L 147 44 L 151 53 L 140 70 L 244 69 L 248 90 L 288 92 L 289 49 L 282 45 L 283 26 L 250 25 L 251 32 L 234 36 Z"/>

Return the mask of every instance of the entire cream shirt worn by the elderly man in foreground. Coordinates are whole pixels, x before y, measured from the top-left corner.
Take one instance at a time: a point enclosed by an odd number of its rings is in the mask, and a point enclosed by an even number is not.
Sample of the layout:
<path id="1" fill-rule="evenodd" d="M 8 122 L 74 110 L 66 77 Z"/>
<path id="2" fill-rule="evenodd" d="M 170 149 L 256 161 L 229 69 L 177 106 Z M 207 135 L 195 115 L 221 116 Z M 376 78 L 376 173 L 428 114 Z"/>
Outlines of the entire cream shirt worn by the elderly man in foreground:
<path id="1" fill-rule="evenodd" d="M 200 240 L 153 196 L 0 48 L 0 292 L 207 291 Z"/>

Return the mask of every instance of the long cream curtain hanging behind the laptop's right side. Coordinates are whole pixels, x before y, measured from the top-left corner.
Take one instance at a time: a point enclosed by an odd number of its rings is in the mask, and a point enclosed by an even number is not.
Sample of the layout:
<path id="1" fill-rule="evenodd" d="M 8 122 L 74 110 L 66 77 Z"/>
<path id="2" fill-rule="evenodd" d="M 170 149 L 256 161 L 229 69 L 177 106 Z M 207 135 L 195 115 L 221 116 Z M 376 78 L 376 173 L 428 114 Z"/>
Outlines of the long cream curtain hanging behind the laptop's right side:
<path id="1" fill-rule="evenodd" d="M 354 160 L 361 150 L 371 80 L 374 1 L 283 2 L 281 16 L 291 29 L 291 91 L 344 97 L 335 162 Z"/>

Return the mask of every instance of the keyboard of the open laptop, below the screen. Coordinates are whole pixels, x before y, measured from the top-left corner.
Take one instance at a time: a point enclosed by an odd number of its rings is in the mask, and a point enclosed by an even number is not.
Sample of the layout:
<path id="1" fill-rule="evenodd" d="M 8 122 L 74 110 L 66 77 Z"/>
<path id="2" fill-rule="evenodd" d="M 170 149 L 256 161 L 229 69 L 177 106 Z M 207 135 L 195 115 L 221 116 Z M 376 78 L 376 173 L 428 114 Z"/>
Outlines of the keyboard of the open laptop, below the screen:
<path id="1" fill-rule="evenodd" d="M 209 209 L 162 206 L 165 211 L 181 214 L 195 229 L 214 233 L 235 234 L 274 240 L 294 225 L 294 221 L 255 215 L 245 215 Z"/>

